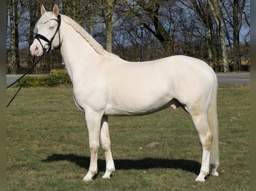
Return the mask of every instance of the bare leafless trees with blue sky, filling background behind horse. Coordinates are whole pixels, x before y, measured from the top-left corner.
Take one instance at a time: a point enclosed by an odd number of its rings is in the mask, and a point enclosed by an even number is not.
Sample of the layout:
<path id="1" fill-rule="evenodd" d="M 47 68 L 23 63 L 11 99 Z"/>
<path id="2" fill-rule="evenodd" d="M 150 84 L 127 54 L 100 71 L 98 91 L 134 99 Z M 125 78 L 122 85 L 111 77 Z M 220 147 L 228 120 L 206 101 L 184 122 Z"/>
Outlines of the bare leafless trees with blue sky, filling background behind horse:
<path id="1" fill-rule="evenodd" d="M 240 70 L 241 57 L 249 54 L 248 1 L 7 0 L 8 62 L 12 73 L 18 72 L 19 66 L 24 68 L 26 64 L 31 65 L 29 48 L 27 48 L 29 55 L 26 57 L 27 63 L 23 65 L 24 60 L 22 60 L 21 64 L 18 64 L 20 55 L 24 54 L 24 51 L 19 52 L 20 46 L 32 44 L 33 29 L 41 16 L 39 13 L 41 4 L 50 11 L 56 3 L 61 14 L 70 16 L 83 26 L 106 47 L 107 51 L 114 51 L 126 60 L 139 60 L 139 22 L 145 21 L 143 43 L 145 60 L 184 54 L 207 61 L 215 71 L 220 71 L 219 66 L 223 66 L 222 70 L 227 72 L 229 48 L 232 53 L 231 63 L 233 62 L 231 67 L 237 66 L 236 70 Z M 240 45 L 240 30 L 243 28 L 248 28 L 248 33 L 242 36 L 245 45 Z M 21 39 L 27 42 L 21 42 Z M 61 59 L 58 54 L 58 50 L 46 54 L 38 64 L 36 72 L 46 73 L 53 68 L 59 68 Z"/>

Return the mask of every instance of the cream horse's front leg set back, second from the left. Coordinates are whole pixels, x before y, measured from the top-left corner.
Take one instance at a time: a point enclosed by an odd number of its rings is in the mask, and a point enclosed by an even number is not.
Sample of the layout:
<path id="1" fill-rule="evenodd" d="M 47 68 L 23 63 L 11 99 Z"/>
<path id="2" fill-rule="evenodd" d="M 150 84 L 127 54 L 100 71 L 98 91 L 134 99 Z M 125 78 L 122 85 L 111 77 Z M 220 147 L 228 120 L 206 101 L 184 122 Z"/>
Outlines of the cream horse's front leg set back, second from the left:
<path id="1" fill-rule="evenodd" d="M 102 117 L 100 140 L 106 158 L 106 171 L 102 178 L 110 178 L 111 173 L 115 170 L 115 165 L 110 150 L 111 141 L 108 128 L 108 116 Z"/>

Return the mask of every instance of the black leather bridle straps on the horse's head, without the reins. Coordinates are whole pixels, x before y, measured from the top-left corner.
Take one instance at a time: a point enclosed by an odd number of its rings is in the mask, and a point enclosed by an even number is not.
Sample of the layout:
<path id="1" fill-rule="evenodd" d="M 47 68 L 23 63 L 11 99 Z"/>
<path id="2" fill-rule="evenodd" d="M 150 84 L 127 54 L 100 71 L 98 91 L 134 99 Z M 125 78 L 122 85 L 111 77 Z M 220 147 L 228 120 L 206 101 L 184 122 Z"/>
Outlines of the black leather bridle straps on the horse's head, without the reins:
<path id="1" fill-rule="evenodd" d="M 37 39 L 37 40 L 39 41 L 39 43 L 41 44 L 41 46 L 42 46 L 42 48 L 43 48 L 43 52 L 49 52 L 49 51 L 51 51 L 51 43 L 52 43 L 52 41 L 53 41 L 55 35 L 57 34 L 57 32 L 59 32 L 59 27 L 60 27 L 60 23 L 61 23 L 60 15 L 58 15 L 58 20 L 57 20 L 57 19 L 50 19 L 49 21 L 51 21 L 51 20 L 55 20 L 55 21 L 57 21 L 57 23 L 58 23 L 57 29 L 56 29 L 56 31 L 55 31 L 53 37 L 51 38 L 51 40 L 48 40 L 45 36 L 43 36 L 43 35 L 41 35 L 41 34 L 35 35 L 35 38 L 34 38 L 34 39 Z M 48 22 L 48 21 L 46 21 L 46 22 L 44 22 L 44 23 L 47 23 L 47 22 Z M 44 23 L 43 23 L 43 24 L 44 24 Z M 44 46 L 42 45 L 40 39 L 43 40 L 43 41 L 45 41 L 45 42 L 47 42 L 47 44 L 45 44 L 46 47 L 45 47 L 45 45 L 44 45 Z M 58 46 L 58 48 L 59 48 L 59 47 L 60 47 L 60 35 L 59 35 L 59 46 Z M 47 50 L 47 49 L 48 49 L 48 50 Z M 46 50 L 47 50 L 47 51 L 46 51 Z"/>

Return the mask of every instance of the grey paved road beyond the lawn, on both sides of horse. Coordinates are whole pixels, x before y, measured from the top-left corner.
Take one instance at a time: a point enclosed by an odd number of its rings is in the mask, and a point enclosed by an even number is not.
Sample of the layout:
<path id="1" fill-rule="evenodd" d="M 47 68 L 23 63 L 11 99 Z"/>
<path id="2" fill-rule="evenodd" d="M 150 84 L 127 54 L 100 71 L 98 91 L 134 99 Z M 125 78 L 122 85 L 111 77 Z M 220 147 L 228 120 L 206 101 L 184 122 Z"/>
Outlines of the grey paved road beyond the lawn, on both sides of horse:
<path id="1" fill-rule="evenodd" d="M 6 75 L 6 86 L 9 86 L 22 75 Z M 31 75 L 46 76 L 46 75 Z M 218 84 L 250 84 L 250 74 L 217 74 Z"/>

